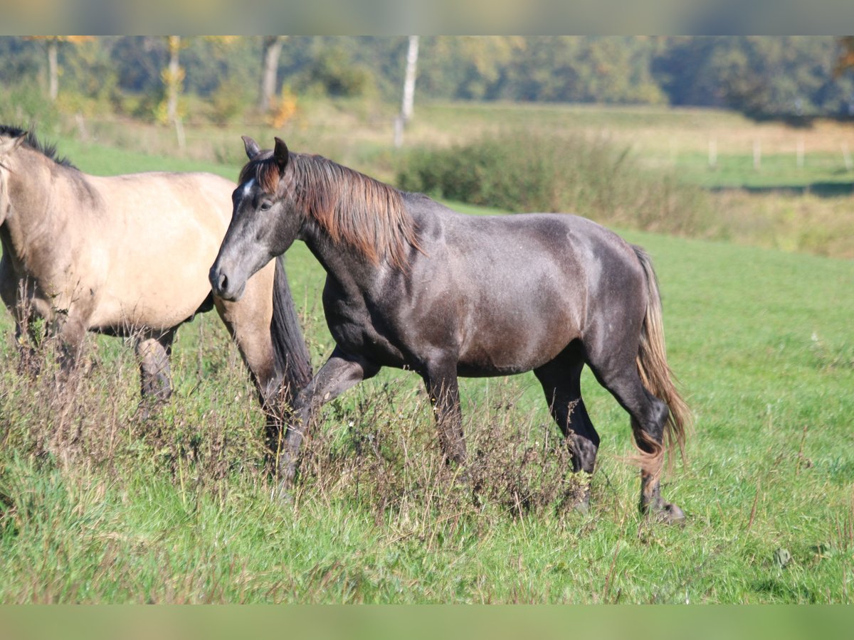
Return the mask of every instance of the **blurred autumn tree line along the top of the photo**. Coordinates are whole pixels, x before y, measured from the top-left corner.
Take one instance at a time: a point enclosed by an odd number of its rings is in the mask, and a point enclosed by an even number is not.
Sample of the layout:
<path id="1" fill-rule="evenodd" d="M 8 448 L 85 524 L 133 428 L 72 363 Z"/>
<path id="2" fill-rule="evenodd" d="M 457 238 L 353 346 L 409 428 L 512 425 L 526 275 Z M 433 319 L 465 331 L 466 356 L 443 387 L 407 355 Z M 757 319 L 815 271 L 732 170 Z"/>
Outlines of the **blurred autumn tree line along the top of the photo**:
<path id="1" fill-rule="evenodd" d="M 847 117 L 854 115 L 851 50 L 851 38 L 806 36 L 422 37 L 416 102 L 671 104 L 757 118 Z M 283 86 L 296 95 L 396 101 L 406 59 L 407 37 L 182 38 L 179 47 L 168 37 L 3 37 L 0 82 L 38 79 L 45 94 L 56 95 L 58 82 L 59 92 L 114 102 L 148 96 L 152 104 L 170 83 L 262 108 Z"/>

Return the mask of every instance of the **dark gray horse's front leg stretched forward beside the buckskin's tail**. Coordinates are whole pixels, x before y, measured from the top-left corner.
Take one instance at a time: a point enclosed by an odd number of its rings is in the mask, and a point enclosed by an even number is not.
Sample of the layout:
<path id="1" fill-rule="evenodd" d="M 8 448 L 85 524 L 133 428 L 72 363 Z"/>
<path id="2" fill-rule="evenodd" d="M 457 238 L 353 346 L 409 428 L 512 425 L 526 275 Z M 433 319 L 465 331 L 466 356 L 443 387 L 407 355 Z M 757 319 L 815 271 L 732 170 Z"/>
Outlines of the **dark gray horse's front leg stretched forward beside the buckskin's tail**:
<path id="1" fill-rule="evenodd" d="M 379 369 L 376 364 L 351 356 L 336 346 L 326 364 L 314 375 L 308 386 L 297 394 L 294 414 L 284 433 L 284 441 L 280 434 L 270 434 L 271 450 L 278 457 L 277 468 L 281 480 L 278 486 L 279 497 L 288 497 L 296 474 L 302 440 L 312 426 L 316 411 L 358 382 L 377 375 Z"/>

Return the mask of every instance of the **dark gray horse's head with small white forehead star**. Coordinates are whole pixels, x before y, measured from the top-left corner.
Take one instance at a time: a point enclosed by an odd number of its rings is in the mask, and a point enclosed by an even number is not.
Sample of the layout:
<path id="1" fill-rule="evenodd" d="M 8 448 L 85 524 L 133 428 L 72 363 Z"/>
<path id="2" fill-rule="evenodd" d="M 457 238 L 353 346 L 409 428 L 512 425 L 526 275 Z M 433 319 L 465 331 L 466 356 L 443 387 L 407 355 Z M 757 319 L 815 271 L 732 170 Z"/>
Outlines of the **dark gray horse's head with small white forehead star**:
<path id="1" fill-rule="evenodd" d="M 243 143 L 249 162 L 231 195 L 231 224 L 208 276 L 213 293 L 226 300 L 239 300 L 246 281 L 287 251 L 304 219 L 287 189 L 292 182 L 287 145 L 278 137 L 272 151 L 261 151 L 250 137 Z"/>

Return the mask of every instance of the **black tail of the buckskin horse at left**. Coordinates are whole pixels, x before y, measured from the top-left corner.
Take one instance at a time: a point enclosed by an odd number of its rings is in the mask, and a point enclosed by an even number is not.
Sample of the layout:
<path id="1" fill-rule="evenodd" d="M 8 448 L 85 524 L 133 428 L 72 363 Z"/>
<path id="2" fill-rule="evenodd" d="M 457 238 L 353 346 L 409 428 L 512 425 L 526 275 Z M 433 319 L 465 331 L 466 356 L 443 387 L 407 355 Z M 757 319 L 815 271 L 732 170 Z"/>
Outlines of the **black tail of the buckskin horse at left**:
<path id="1" fill-rule="evenodd" d="M 288 276 L 284 271 L 284 258 L 275 260 L 276 274 L 272 286 L 270 336 L 276 371 L 283 376 L 284 397 L 293 404 L 296 393 L 306 387 L 312 379 L 312 363 L 308 356 L 306 340 L 302 337 L 294 298 L 290 294 Z"/>

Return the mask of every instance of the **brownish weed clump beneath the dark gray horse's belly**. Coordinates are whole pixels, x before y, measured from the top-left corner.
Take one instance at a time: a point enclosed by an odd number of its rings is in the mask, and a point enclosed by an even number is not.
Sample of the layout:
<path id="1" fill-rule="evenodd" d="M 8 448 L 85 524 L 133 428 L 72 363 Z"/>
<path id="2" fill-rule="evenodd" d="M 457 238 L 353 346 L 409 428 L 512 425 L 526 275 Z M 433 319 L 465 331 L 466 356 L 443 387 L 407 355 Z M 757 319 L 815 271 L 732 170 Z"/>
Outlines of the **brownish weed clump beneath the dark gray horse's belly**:
<path id="1" fill-rule="evenodd" d="M 328 407 L 301 454 L 298 500 L 347 496 L 377 524 L 426 528 L 464 515 L 561 515 L 582 500 L 588 478 L 571 473 L 566 441 L 524 416 L 512 392 L 464 410 L 465 467 L 445 463 L 423 396 L 387 383 L 352 408 Z"/>

